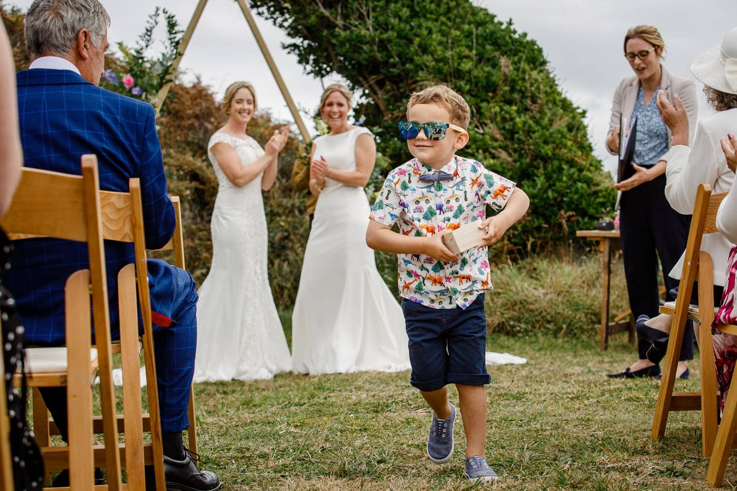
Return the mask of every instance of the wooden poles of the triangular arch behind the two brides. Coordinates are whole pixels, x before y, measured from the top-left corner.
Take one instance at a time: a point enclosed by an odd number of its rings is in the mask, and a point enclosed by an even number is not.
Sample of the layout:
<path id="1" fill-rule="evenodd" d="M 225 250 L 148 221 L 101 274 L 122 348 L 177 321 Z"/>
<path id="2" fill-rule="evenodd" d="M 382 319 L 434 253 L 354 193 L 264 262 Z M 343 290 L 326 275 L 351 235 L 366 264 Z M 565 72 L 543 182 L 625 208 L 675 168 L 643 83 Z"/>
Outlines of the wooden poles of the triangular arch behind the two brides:
<path id="1" fill-rule="evenodd" d="M 266 59 L 266 63 L 268 63 L 268 66 L 271 70 L 271 74 L 274 76 L 274 79 L 276 80 L 276 85 L 279 85 L 279 90 L 282 91 L 282 96 L 284 96 L 284 102 L 287 102 L 287 106 L 289 107 L 289 110 L 292 113 L 294 122 L 297 124 L 297 127 L 299 128 L 299 133 L 301 133 L 302 138 L 304 139 L 305 143 L 310 142 L 312 140 L 312 138 L 310 138 L 310 133 L 307 132 L 307 127 L 304 126 L 304 121 L 302 121 L 302 117 L 299 115 L 299 111 L 297 110 L 296 105 L 294 105 L 292 96 L 290 96 L 289 90 L 287 90 L 287 85 L 284 85 L 284 80 L 282 79 L 282 75 L 279 74 L 279 68 L 276 68 L 276 63 L 274 63 L 274 60 L 271 57 L 269 49 L 266 46 L 266 43 L 264 42 L 264 38 L 261 35 L 261 31 L 259 31 L 259 27 L 256 26 L 256 21 L 254 21 L 254 16 L 251 15 L 251 9 L 249 9 L 248 5 L 245 4 L 245 0 L 237 0 L 237 2 L 240 5 L 240 10 L 243 11 L 245 20 L 248 22 L 248 27 L 250 27 L 251 32 L 254 33 L 254 38 L 256 38 L 256 43 L 259 44 L 259 48 L 261 49 L 261 52 L 264 55 L 264 58 Z M 186 31 L 184 32 L 184 36 L 182 37 L 182 40 L 179 43 L 177 57 L 175 57 L 175 59 L 172 61 L 172 66 L 170 68 L 170 74 L 172 74 L 172 76 L 173 74 L 176 74 L 177 68 L 179 68 L 179 62 L 184 56 L 186 47 L 187 45 L 189 45 L 189 39 L 192 38 L 192 33 L 195 32 L 195 27 L 197 27 L 197 23 L 200 21 L 200 16 L 202 15 L 202 11 L 205 9 L 206 4 L 207 4 L 207 0 L 200 0 L 200 2 L 197 4 L 197 7 L 195 7 L 195 13 L 192 15 L 192 20 L 189 21 L 189 26 L 186 28 Z M 166 85 L 164 85 L 164 87 L 161 88 L 161 90 L 158 91 L 158 94 L 156 94 L 156 113 L 157 114 L 161 110 L 161 106 L 164 105 L 164 100 L 167 99 L 167 94 L 169 93 L 170 85 L 171 85 L 171 82 L 168 82 Z"/>

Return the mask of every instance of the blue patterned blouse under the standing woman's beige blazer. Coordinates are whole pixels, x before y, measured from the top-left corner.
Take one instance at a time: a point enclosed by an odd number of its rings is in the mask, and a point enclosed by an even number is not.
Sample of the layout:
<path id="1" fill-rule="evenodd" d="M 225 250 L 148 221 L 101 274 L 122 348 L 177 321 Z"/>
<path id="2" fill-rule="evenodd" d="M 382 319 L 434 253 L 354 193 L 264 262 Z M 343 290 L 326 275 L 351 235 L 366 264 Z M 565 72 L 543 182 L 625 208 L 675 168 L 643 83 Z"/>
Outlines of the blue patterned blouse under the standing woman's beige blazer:
<path id="1" fill-rule="evenodd" d="M 635 134 L 635 155 L 632 161 L 639 166 L 654 166 L 668 152 L 668 129 L 655 105 L 655 96 L 645 105 L 645 91 L 640 87 L 632 116 L 638 117 Z"/>

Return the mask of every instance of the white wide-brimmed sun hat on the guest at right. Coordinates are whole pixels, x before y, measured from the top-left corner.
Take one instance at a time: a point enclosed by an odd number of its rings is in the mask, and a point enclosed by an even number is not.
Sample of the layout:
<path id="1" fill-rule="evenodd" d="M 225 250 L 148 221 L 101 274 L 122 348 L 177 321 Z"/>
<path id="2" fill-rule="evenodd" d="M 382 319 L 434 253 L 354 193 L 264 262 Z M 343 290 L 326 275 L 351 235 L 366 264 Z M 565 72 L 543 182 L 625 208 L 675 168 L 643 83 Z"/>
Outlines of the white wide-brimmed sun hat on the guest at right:
<path id="1" fill-rule="evenodd" d="M 737 27 L 691 64 L 691 73 L 710 88 L 737 94 Z"/>

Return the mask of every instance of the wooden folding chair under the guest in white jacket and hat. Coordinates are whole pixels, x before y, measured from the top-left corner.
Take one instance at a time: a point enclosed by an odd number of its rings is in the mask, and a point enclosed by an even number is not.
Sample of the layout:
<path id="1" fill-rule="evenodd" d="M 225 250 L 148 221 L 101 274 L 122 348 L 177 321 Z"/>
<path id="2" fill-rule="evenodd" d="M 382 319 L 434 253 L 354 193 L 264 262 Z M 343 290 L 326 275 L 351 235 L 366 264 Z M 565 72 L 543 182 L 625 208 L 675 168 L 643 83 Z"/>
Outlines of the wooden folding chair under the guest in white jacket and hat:
<path id="1" fill-rule="evenodd" d="M 726 195 L 727 192 L 711 194 L 710 186 L 704 183 L 699 184 L 696 191 L 678 297 L 675 303 L 668 302 L 660 308 L 661 313 L 672 314 L 674 319 L 650 434 L 652 439 L 663 438 L 670 411 L 701 411 L 702 453 L 707 457 L 711 454 L 716 437 L 719 394 L 716 389 L 716 367 L 711 339 L 711 322 L 714 318 L 713 266 L 709 253 L 700 249 L 702 236 L 718 231 L 716 211 Z M 690 305 L 696 275 L 699 276 L 699 305 Z M 699 327 L 696 329 L 696 336 L 701 353 L 701 390 L 673 392 L 683 331 L 688 319 L 694 321 L 695 328 Z"/>

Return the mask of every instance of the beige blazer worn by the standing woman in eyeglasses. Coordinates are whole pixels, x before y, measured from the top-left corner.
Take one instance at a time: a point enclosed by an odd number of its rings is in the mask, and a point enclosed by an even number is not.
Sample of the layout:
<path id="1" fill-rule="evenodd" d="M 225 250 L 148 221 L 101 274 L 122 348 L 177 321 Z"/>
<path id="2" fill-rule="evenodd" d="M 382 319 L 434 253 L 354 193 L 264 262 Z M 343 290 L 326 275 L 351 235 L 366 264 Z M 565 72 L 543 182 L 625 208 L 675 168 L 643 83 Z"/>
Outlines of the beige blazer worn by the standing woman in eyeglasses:
<path id="1" fill-rule="evenodd" d="M 696 119 L 698 118 L 699 113 L 699 102 L 696 97 L 696 85 L 694 85 L 694 82 L 691 82 L 691 80 L 671 75 L 663 65 L 660 65 L 660 70 L 660 88 L 666 91 L 668 101 L 672 104 L 673 94 L 677 93 L 681 102 L 683 102 L 683 107 L 685 107 L 686 114 L 688 114 L 688 142 L 691 143 L 694 141 Z M 640 91 L 640 79 L 638 79 L 637 75 L 632 75 L 632 77 L 623 79 L 617 86 L 617 90 L 614 92 L 614 100 L 612 101 L 612 117 L 609 118 L 607 138 L 609 138 L 609 134 L 612 133 L 612 129 L 619 124 L 620 115 L 624 114 L 627 121 L 632 120 L 632 113 L 635 112 L 635 102 L 637 102 L 638 99 L 638 91 Z M 657 93 L 653 96 L 653 99 L 650 102 L 651 104 L 655 102 L 656 96 Z M 668 129 L 668 148 L 671 146 L 672 138 L 673 135 L 671 135 L 671 130 Z M 612 152 L 606 143 L 604 146 L 607 147 L 607 152 L 612 155 L 617 155 L 617 152 Z M 666 160 L 667 162 L 670 153 L 670 150 L 668 150 L 660 160 Z"/>

